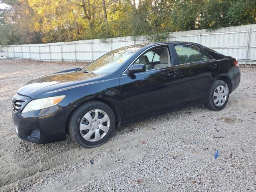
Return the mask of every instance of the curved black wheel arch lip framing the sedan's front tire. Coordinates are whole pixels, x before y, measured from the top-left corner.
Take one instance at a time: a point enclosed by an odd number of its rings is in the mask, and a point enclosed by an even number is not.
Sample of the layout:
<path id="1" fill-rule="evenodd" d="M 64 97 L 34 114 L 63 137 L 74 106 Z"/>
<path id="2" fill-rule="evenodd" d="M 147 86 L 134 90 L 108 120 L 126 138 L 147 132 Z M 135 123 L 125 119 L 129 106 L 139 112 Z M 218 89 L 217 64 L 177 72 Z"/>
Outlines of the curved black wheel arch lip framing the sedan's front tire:
<path id="1" fill-rule="evenodd" d="M 66 121 L 66 132 L 68 131 L 68 122 L 69 122 L 69 120 L 70 120 L 70 117 L 72 116 L 72 114 L 74 113 L 74 111 L 79 107 L 79 106 L 81 106 L 81 105 L 83 105 L 83 104 L 85 104 L 85 103 L 87 103 L 87 102 L 91 102 L 91 101 L 100 101 L 100 102 L 102 102 L 102 103 L 104 103 L 104 104 L 106 104 L 106 105 L 108 105 L 111 109 L 112 109 L 112 111 L 114 112 L 114 116 L 115 116 L 115 119 L 116 119 L 116 126 L 117 127 L 120 127 L 120 125 L 121 125 L 121 116 L 120 116 L 120 114 L 119 114 L 119 112 L 118 112 L 118 109 L 116 108 L 116 105 L 113 103 L 113 102 L 111 102 L 110 100 L 108 100 L 108 99 L 106 99 L 106 98 L 91 98 L 91 99 L 88 99 L 88 100 L 86 100 L 86 101 L 84 101 L 84 102 L 81 102 L 80 104 L 78 104 L 77 106 L 76 106 L 76 108 L 74 108 L 73 110 L 72 110 L 72 112 L 69 114 L 69 116 L 68 116 L 68 119 L 67 119 L 67 121 Z"/>

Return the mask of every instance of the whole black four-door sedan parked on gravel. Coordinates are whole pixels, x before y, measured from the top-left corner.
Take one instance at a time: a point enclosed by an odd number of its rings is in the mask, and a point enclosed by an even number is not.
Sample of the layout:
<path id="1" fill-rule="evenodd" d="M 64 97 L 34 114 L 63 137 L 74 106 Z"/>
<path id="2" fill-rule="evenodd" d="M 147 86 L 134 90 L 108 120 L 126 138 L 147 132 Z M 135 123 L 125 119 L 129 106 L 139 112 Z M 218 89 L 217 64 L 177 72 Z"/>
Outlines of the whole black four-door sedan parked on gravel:
<path id="1" fill-rule="evenodd" d="M 222 110 L 239 85 L 238 62 L 190 42 L 132 45 L 84 68 L 35 78 L 12 100 L 18 136 L 34 143 L 106 142 L 116 126 L 205 104 Z"/>

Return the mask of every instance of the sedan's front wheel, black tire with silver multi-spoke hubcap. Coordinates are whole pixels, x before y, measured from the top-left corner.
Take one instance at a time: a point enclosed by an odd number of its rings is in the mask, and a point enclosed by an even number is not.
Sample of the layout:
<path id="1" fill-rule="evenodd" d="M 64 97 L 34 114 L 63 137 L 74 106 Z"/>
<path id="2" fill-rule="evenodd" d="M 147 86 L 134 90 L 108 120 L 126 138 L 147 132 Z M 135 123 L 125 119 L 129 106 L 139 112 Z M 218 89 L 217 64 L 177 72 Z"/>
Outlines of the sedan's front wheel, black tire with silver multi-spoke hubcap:
<path id="1" fill-rule="evenodd" d="M 72 113 L 68 133 L 78 145 L 93 148 L 104 144 L 112 136 L 115 122 L 114 112 L 108 105 L 91 101 L 78 106 Z"/>

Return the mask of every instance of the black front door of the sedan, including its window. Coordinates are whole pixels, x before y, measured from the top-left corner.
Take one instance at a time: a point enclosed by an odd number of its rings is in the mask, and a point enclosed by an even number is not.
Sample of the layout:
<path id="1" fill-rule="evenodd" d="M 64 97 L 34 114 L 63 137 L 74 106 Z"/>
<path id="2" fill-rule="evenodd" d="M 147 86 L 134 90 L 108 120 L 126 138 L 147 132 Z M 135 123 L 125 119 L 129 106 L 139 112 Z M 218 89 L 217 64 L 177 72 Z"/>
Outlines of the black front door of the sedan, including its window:
<path id="1" fill-rule="evenodd" d="M 180 105 L 179 70 L 178 66 L 172 65 L 169 47 L 160 46 L 149 52 L 134 62 L 145 64 L 148 68 L 146 72 L 123 74 L 120 77 L 126 120 Z M 150 54 L 154 58 L 148 58 Z"/>

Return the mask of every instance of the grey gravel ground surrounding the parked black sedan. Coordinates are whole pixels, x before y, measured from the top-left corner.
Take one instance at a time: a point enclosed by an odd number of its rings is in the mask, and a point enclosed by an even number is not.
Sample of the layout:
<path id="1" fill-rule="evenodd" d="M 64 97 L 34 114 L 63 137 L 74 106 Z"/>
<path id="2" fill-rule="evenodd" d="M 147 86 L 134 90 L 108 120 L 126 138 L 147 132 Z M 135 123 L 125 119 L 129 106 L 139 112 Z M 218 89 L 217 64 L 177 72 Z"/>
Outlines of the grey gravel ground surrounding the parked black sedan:
<path id="1" fill-rule="evenodd" d="M 84 65 L 0 60 L 1 192 L 256 191 L 256 67 L 240 68 L 240 86 L 220 112 L 194 106 L 150 118 L 117 128 L 93 149 L 69 138 L 52 144 L 19 139 L 11 119 L 18 88 Z"/>

